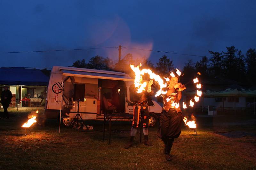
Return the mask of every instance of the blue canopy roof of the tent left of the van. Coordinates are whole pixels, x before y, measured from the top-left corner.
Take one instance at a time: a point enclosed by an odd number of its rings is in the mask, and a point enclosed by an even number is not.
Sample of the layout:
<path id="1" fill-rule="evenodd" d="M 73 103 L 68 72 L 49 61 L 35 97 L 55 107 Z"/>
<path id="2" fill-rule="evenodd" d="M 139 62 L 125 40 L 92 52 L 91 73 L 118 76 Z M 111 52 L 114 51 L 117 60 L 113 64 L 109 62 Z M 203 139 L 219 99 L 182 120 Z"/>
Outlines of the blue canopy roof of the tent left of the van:
<path id="1" fill-rule="evenodd" d="M 48 86 L 49 77 L 39 69 L 0 68 L 0 85 Z"/>

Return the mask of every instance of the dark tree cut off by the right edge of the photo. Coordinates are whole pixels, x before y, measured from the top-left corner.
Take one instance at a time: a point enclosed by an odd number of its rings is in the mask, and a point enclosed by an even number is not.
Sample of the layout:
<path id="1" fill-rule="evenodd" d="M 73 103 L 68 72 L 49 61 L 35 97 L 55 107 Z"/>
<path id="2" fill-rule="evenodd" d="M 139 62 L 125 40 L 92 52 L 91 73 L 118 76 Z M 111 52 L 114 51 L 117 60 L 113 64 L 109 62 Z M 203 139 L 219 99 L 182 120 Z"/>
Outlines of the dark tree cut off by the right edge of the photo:
<path id="1" fill-rule="evenodd" d="M 245 58 L 245 62 L 246 62 L 246 68 L 247 68 L 247 77 L 248 80 L 250 80 L 251 84 L 256 83 L 255 77 L 256 77 L 256 50 L 255 48 L 252 49 L 248 49 L 246 52 L 246 58 Z"/>

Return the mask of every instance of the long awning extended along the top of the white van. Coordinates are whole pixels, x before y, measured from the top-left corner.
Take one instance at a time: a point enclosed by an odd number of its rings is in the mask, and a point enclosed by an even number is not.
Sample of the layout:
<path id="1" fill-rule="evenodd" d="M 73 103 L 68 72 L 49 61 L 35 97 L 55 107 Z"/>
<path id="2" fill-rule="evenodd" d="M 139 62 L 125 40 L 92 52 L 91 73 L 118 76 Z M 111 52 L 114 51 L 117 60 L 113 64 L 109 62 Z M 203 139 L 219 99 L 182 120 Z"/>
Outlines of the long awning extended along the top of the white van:
<path id="1" fill-rule="evenodd" d="M 122 80 L 122 81 L 134 81 L 127 74 L 125 75 L 115 75 L 108 73 L 95 73 L 86 71 L 72 71 L 72 70 L 61 70 L 63 76 L 75 76 L 75 77 L 86 77 L 86 78 L 101 78 L 101 79 L 111 79 L 111 80 Z"/>

